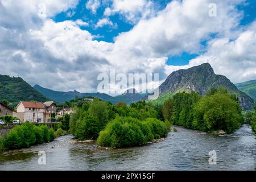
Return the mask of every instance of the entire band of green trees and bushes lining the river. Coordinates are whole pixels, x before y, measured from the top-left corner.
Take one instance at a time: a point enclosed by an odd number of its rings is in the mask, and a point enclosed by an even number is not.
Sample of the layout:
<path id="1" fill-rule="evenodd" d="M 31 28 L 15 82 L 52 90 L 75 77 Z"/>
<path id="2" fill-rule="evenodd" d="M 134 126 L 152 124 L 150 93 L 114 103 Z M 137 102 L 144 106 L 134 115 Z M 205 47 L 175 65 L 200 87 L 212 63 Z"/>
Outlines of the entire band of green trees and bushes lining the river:
<path id="1" fill-rule="evenodd" d="M 146 144 L 166 137 L 171 125 L 232 133 L 249 123 L 256 131 L 256 106 L 254 111 L 242 112 L 237 97 L 224 88 L 211 89 L 204 97 L 196 92 L 176 93 L 164 104 L 155 103 L 139 101 L 127 106 L 124 102 L 113 105 L 97 98 L 93 102 L 77 99 L 70 103 L 76 108 L 70 122 L 68 116 L 63 118 L 64 128 L 76 139 L 96 140 L 104 147 Z M 0 138 L 0 149 L 28 147 L 65 133 L 60 128 L 54 133 L 46 126 L 25 123 L 11 130 L 6 138 Z"/>

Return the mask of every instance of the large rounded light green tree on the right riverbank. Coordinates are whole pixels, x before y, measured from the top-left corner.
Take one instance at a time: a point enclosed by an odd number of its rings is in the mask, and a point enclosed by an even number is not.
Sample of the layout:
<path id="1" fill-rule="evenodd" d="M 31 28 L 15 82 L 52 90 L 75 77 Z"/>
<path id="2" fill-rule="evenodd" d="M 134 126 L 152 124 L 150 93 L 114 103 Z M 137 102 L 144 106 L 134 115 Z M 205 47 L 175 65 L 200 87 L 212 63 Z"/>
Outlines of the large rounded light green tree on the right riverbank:
<path id="1" fill-rule="evenodd" d="M 196 104 L 193 127 L 201 131 L 224 130 L 231 133 L 243 122 L 241 113 L 241 107 L 232 96 L 219 89 L 212 96 L 206 96 Z"/>

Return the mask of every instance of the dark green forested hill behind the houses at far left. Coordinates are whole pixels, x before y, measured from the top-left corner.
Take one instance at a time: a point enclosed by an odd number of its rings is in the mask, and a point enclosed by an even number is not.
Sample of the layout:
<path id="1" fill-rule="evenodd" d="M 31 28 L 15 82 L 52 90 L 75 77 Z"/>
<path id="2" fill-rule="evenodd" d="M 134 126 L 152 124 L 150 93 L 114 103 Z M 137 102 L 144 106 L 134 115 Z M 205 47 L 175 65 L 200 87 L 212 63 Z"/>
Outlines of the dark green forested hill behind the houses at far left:
<path id="1" fill-rule="evenodd" d="M 39 101 L 47 98 L 20 77 L 0 75 L 0 99 L 8 102 Z"/>

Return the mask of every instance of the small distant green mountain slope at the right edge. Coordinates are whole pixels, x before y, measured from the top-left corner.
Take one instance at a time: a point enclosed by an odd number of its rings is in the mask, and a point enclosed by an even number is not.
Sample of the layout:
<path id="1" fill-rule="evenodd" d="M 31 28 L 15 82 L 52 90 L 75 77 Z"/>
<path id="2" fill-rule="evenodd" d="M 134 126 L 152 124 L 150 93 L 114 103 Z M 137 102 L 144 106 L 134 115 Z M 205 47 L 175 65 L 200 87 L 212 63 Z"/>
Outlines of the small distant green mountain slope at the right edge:
<path id="1" fill-rule="evenodd" d="M 236 84 L 237 88 L 245 92 L 248 96 L 256 101 L 256 80 L 246 81 Z"/>

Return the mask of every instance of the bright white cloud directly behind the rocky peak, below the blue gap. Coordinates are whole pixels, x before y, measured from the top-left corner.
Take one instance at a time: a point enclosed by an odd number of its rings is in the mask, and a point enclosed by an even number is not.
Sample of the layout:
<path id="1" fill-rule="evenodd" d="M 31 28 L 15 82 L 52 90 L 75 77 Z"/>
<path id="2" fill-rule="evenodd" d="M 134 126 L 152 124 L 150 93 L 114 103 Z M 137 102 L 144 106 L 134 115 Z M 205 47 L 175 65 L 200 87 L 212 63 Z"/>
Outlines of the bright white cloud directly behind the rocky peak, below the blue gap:
<path id="1" fill-rule="evenodd" d="M 238 83 L 256 79 L 256 22 L 241 32 L 235 40 L 220 38 L 212 40 L 207 52 L 190 61 L 184 67 L 166 66 L 167 73 L 210 63 L 219 75 Z"/>

